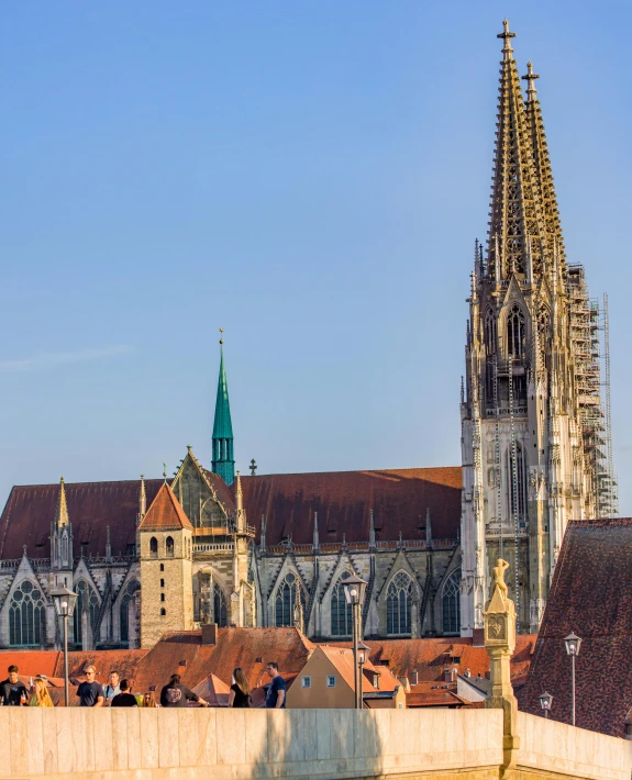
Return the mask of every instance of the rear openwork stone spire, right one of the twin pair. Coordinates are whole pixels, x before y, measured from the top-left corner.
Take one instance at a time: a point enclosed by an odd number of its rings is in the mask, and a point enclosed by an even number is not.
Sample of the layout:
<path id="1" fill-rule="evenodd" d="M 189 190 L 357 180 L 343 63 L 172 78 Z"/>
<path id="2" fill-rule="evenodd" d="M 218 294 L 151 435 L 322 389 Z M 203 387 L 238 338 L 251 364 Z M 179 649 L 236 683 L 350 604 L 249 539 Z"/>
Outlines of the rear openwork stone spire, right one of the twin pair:
<path id="1" fill-rule="evenodd" d="M 526 63 L 526 74 L 522 77 L 522 79 L 526 81 L 526 126 L 531 137 L 533 169 L 541 194 L 542 216 L 546 227 L 546 250 L 548 257 L 551 257 L 553 254 L 553 242 L 556 242 L 561 260 L 564 265 L 566 255 L 562 237 L 559 209 L 557 208 L 557 198 L 553 183 L 553 172 L 546 144 L 546 133 L 544 132 L 542 108 L 540 100 L 537 100 L 537 90 L 535 89 L 535 80 L 539 78 L 540 76 L 533 73 L 533 64 Z"/>

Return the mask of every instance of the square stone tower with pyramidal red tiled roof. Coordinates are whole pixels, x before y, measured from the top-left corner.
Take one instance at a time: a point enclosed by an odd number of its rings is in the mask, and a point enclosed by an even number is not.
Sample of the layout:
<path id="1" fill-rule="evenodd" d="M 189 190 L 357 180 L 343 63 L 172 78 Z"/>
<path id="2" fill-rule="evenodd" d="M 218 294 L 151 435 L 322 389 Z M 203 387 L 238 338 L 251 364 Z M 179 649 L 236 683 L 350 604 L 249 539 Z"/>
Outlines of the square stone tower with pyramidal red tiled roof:
<path id="1" fill-rule="evenodd" d="M 137 528 L 141 558 L 141 647 L 166 631 L 193 627 L 193 527 L 167 482 Z"/>

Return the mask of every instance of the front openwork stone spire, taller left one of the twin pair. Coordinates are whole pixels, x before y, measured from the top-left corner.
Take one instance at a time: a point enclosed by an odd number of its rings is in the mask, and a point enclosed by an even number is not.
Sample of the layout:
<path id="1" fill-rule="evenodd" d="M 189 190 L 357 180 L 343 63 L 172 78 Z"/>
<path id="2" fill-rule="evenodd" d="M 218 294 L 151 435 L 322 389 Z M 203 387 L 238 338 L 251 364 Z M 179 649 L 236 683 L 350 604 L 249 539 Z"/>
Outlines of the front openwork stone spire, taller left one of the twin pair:
<path id="1" fill-rule="evenodd" d="M 544 235 L 540 189 L 511 46 L 514 36 L 515 33 L 509 32 L 509 22 L 505 20 L 503 31 L 498 35 L 503 46 L 487 264 L 489 275 L 500 280 L 507 279 L 512 272 L 522 278 L 526 270 L 526 235 L 537 238 Z M 539 241 L 534 242 L 532 259 L 535 274 L 542 264 L 540 246 Z"/>

